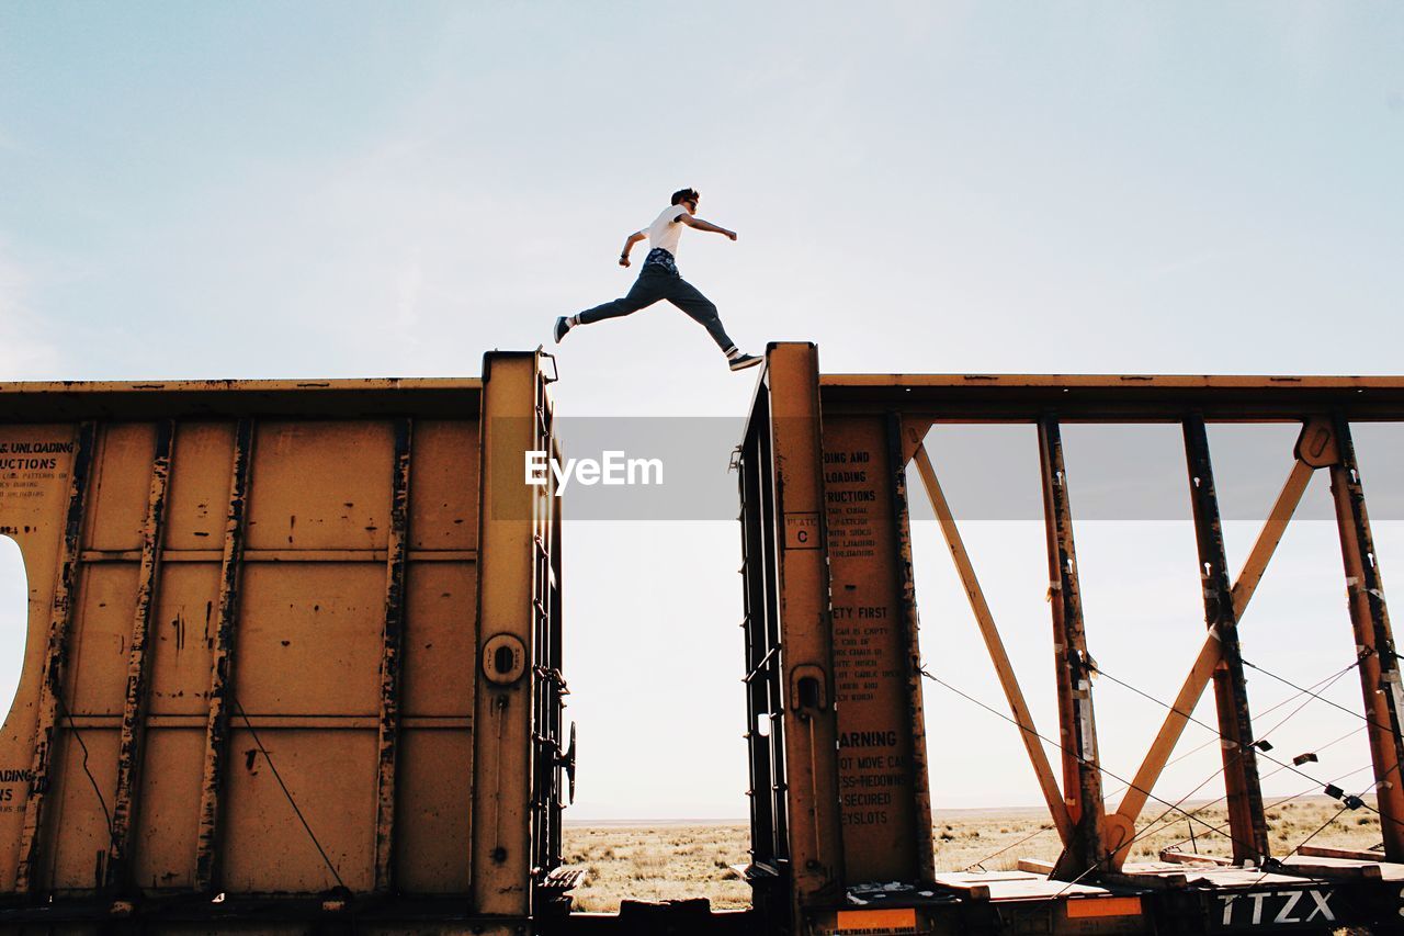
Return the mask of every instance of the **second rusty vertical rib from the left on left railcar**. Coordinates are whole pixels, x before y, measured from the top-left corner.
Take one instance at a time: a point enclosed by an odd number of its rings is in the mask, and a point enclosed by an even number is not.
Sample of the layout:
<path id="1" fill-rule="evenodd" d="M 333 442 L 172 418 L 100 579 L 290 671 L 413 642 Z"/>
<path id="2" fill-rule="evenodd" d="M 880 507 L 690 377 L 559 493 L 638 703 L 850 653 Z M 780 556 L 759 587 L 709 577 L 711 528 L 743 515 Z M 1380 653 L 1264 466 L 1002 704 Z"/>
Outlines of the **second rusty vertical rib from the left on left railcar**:
<path id="1" fill-rule="evenodd" d="M 126 704 L 122 710 L 121 749 L 117 759 L 117 797 L 112 805 L 112 846 L 107 863 L 107 883 L 126 884 L 126 864 L 131 857 L 132 828 L 136 822 L 142 755 L 145 750 L 146 676 L 149 655 L 146 644 L 156 607 L 156 580 L 160 575 L 160 552 L 166 527 L 166 489 L 171 471 L 171 447 L 176 423 L 156 423 L 156 453 L 152 460 L 152 483 L 146 499 L 146 527 L 142 533 L 142 564 L 138 571 L 136 616 L 132 621 L 132 645 L 126 662 Z"/>

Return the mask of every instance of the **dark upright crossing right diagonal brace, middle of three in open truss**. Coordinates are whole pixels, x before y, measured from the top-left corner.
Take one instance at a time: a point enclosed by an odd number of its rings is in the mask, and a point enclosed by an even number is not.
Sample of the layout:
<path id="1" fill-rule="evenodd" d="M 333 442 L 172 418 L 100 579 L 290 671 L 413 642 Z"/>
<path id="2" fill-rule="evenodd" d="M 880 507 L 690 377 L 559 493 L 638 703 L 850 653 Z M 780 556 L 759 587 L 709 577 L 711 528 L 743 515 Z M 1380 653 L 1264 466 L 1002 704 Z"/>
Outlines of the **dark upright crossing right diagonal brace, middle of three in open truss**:
<path id="1" fill-rule="evenodd" d="M 1189 495 L 1199 545 L 1199 575 L 1203 583 L 1205 624 L 1219 637 L 1219 666 L 1214 669 L 1214 701 L 1219 711 L 1224 787 L 1228 794 L 1228 831 L 1237 863 L 1261 864 L 1269 856 L 1268 821 L 1262 811 L 1258 758 L 1252 720 L 1248 715 L 1248 686 L 1238 651 L 1238 616 L 1228 585 L 1228 559 L 1219 520 L 1219 496 L 1209 460 L 1209 436 L 1203 417 L 1184 422 Z"/>

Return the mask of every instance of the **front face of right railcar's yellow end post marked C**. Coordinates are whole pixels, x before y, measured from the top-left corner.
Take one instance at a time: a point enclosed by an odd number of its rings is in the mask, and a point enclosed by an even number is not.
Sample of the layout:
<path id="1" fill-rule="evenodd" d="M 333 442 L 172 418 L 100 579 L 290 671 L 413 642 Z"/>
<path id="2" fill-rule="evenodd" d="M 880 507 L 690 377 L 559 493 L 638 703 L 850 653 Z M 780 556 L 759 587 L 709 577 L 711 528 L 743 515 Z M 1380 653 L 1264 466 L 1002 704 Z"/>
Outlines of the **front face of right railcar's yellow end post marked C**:
<path id="1" fill-rule="evenodd" d="M 779 623 L 792 914 L 800 933 L 803 908 L 833 905 L 844 885 L 817 349 L 771 344 L 765 379 L 776 514 L 785 531 Z"/>

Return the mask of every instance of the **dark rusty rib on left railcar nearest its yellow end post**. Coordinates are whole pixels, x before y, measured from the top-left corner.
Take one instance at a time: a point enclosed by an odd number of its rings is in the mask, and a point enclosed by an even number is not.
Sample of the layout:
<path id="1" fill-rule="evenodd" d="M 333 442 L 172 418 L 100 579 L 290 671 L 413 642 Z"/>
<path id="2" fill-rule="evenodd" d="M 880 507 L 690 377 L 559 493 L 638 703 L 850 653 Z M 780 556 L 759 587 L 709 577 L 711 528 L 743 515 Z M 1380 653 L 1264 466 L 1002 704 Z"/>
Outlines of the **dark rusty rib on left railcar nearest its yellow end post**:
<path id="1" fill-rule="evenodd" d="M 380 645 L 379 767 L 375 779 L 375 890 L 395 887 L 395 767 L 400 741 L 400 644 L 404 634 L 404 557 L 410 535 L 410 448 L 414 426 L 395 422 L 390 538 L 385 558 L 385 631 Z"/>

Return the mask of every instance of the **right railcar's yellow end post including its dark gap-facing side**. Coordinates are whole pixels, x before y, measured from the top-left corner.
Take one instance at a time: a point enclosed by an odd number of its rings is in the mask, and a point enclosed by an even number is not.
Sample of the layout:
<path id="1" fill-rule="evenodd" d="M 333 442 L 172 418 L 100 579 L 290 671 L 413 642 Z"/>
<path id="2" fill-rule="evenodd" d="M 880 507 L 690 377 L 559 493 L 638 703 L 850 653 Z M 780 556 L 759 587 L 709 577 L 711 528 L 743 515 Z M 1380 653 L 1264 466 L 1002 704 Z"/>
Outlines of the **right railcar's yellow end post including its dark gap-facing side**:
<path id="1" fill-rule="evenodd" d="M 842 897 L 845 839 L 813 344 L 768 349 L 737 467 L 754 824 L 747 877 L 769 923 L 802 932 L 806 908 Z"/>

